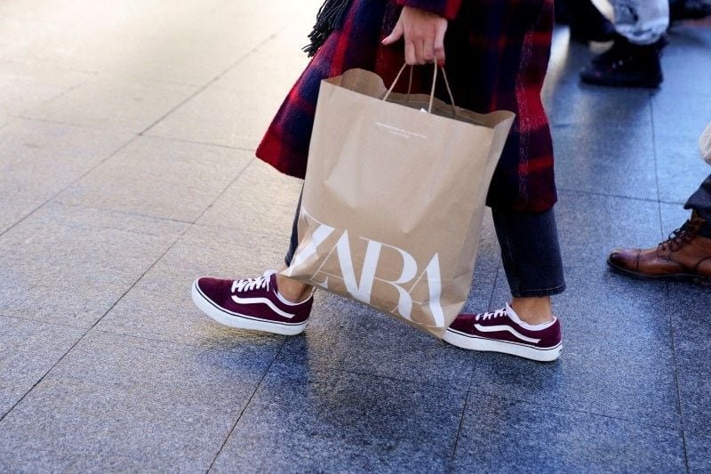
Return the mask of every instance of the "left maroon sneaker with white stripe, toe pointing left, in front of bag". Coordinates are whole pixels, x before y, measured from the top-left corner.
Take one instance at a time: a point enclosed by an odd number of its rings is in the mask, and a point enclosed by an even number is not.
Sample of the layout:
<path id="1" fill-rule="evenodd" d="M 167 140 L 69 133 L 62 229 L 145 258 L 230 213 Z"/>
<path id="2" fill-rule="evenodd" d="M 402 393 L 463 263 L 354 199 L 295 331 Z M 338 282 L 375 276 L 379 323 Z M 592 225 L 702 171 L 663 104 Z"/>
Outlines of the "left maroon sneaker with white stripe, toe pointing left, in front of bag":
<path id="1" fill-rule="evenodd" d="M 198 278 L 193 284 L 197 308 L 220 324 L 284 335 L 303 332 L 314 296 L 292 303 L 276 289 L 276 271 L 259 278 Z"/>

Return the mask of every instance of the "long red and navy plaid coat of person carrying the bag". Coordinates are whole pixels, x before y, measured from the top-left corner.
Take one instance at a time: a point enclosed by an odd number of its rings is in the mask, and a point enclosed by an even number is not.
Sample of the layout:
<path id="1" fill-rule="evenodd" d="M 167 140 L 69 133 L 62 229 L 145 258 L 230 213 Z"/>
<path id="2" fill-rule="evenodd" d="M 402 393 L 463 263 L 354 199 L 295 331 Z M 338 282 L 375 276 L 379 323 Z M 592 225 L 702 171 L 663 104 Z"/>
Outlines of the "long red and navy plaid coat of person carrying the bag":
<path id="1" fill-rule="evenodd" d="M 403 45 L 382 46 L 380 40 L 405 4 L 450 20 L 445 68 L 457 105 L 516 114 L 487 204 L 504 211 L 550 209 L 556 200 L 553 147 L 540 91 L 550 53 L 553 0 L 352 0 L 343 26 L 318 50 L 279 108 L 257 156 L 283 173 L 304 177 L 320 81 L 363 68 L 391 84 L 403 65 Z M 431 70 L 415 71 L 418 88 L 413 91 L 428 92 Z M 407 81 L 401 82 L 406 87 Z M 443 90 L 436 95 L 448 97 Z"/>

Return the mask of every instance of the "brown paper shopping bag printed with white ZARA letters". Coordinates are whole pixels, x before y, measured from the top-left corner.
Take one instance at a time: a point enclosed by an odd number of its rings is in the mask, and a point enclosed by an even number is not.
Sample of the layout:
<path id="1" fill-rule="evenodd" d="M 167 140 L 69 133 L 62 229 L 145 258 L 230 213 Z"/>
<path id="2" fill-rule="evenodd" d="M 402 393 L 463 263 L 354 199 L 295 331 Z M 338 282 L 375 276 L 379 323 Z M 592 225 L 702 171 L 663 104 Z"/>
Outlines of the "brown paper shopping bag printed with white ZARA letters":
<path id="1" fill-rule="evenodd" d="M 283 274 L 442 337 L 471 288 L 514 114 L 435 99 L 434 70 L 430 95 L 393 93 L 363 69 L 322 82 L 300 242 Z"/>

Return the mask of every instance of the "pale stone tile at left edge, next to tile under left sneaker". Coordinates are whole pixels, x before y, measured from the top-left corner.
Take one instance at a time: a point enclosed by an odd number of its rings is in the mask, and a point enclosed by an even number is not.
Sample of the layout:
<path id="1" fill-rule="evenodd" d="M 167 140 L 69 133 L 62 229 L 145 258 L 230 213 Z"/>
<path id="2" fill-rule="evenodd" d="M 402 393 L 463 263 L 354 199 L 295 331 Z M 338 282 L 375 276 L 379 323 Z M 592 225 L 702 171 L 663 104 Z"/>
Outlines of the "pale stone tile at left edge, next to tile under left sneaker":
<path id="1" fill-rule="evenodd" d="M 0 237 L 0 314 L 93 325 L 186 225 L 45 205 Z"/>

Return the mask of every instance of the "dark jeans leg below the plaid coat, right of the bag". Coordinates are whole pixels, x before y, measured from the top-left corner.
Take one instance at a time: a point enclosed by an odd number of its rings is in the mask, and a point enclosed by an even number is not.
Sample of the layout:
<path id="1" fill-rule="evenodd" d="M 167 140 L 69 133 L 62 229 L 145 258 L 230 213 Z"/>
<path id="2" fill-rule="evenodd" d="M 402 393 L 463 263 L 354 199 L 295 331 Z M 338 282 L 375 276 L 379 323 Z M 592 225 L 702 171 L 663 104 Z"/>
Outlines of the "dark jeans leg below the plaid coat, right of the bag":
<path id="1" fill-rule="evenodd" d="M 553 209 L 515 213 L 493 209 L 501 260 L 515 298 L 542 297 L 565 290 Z"/>

